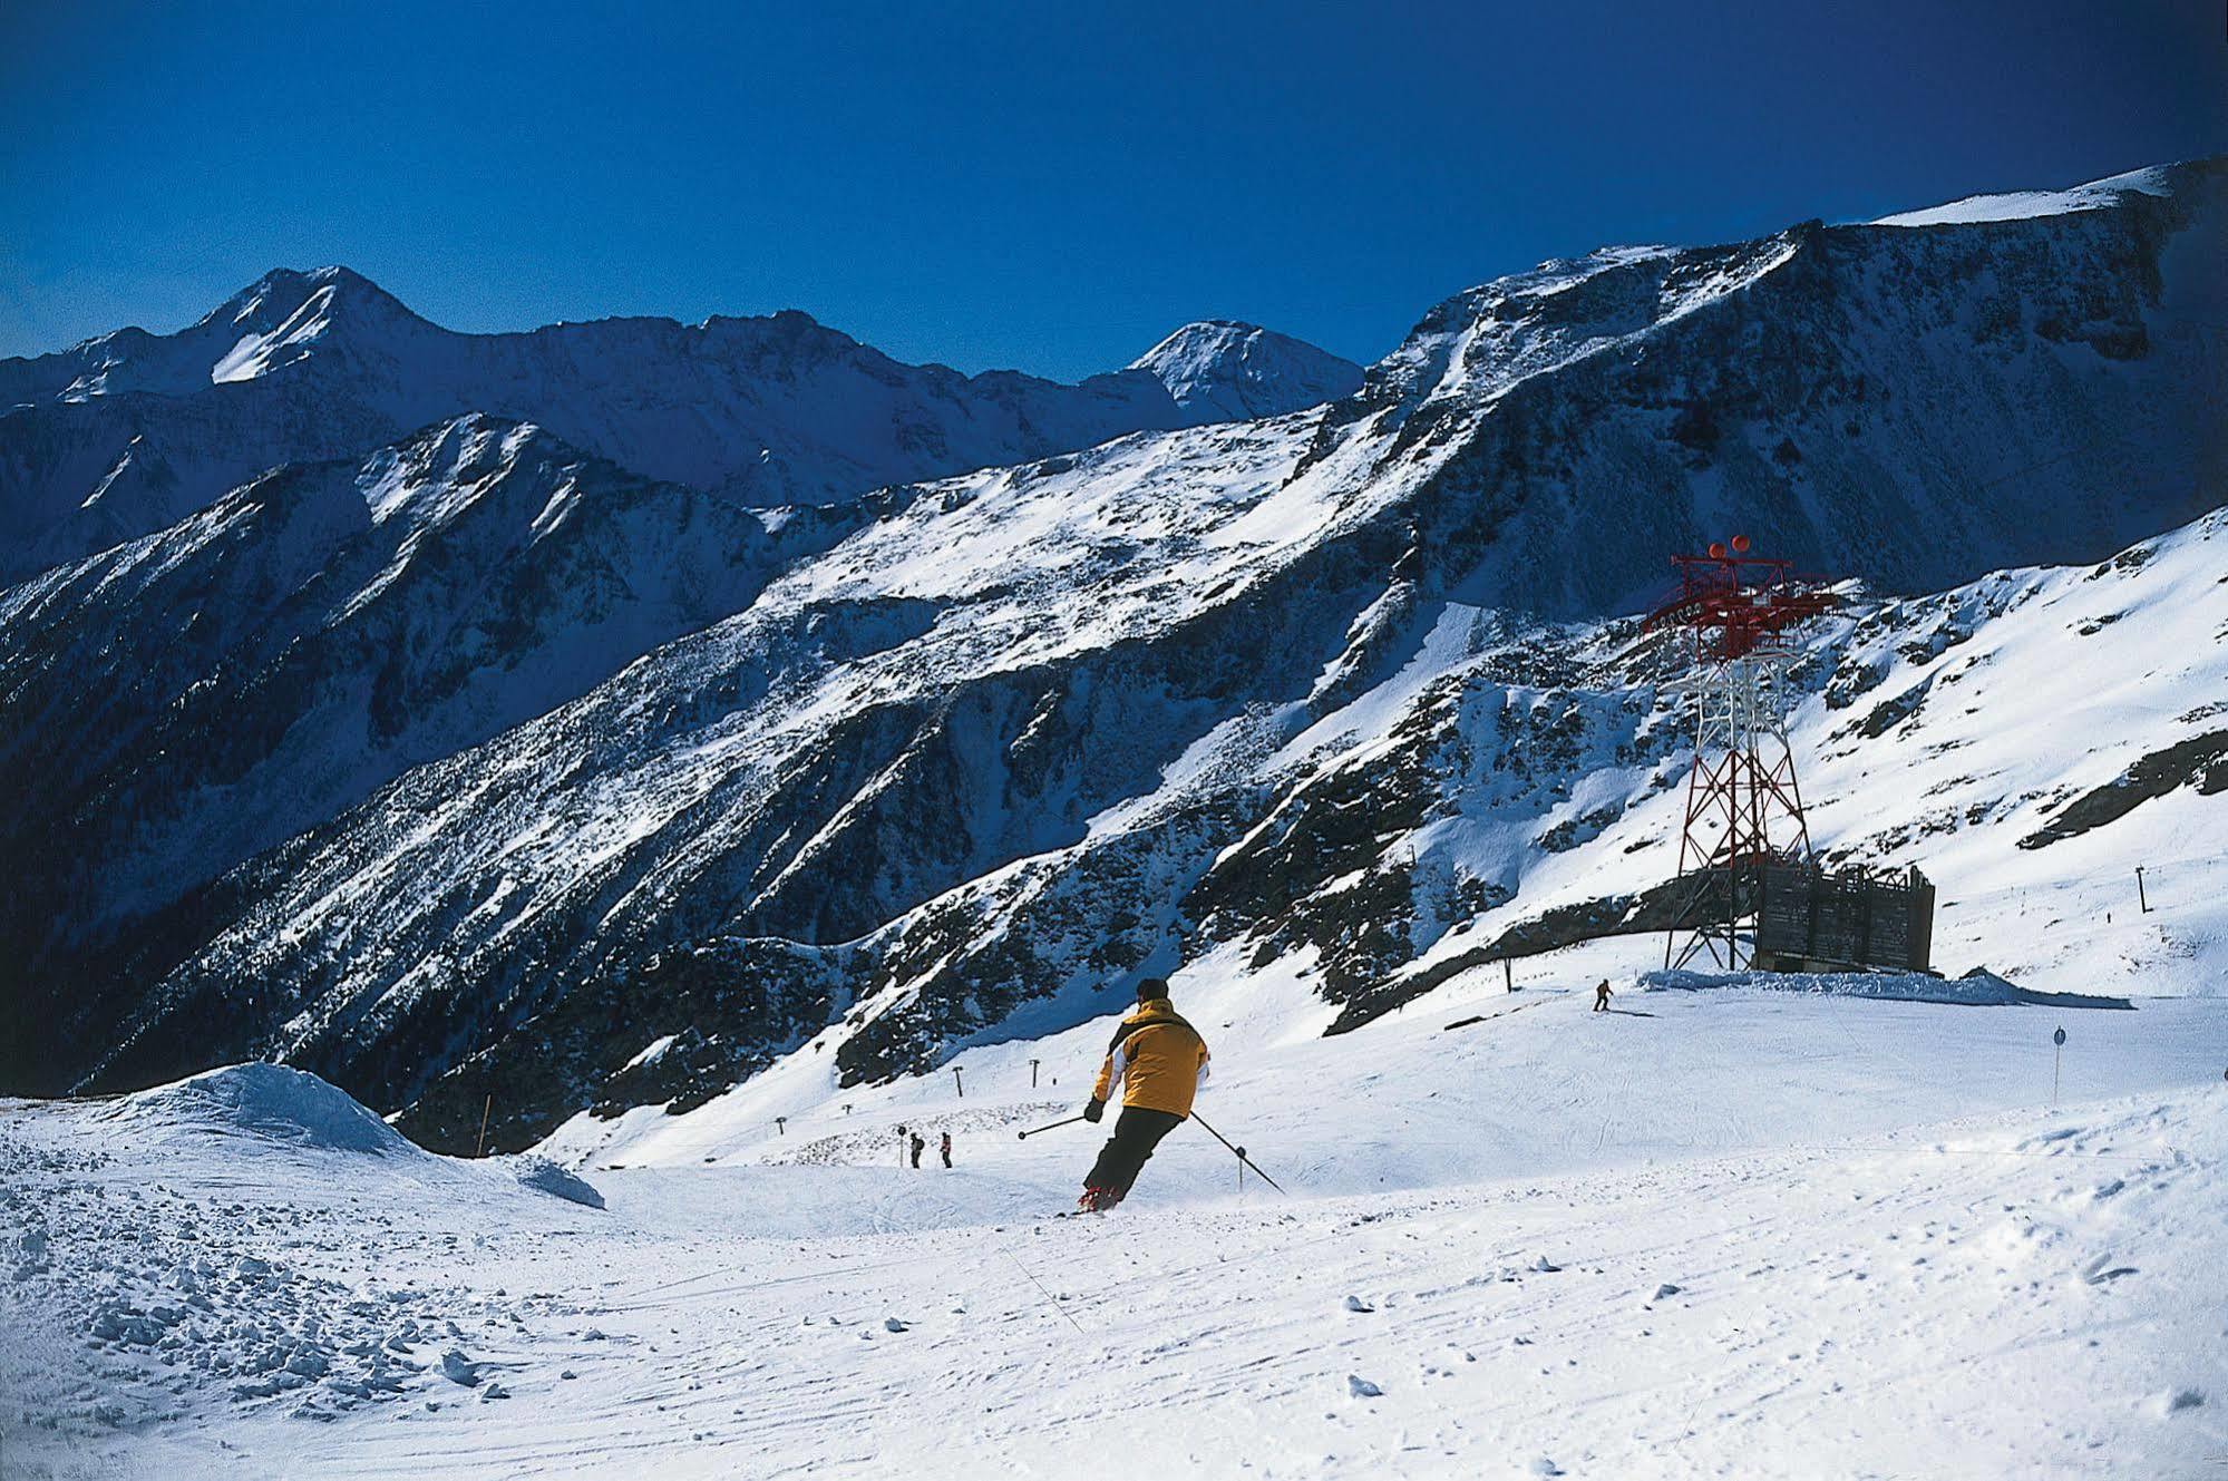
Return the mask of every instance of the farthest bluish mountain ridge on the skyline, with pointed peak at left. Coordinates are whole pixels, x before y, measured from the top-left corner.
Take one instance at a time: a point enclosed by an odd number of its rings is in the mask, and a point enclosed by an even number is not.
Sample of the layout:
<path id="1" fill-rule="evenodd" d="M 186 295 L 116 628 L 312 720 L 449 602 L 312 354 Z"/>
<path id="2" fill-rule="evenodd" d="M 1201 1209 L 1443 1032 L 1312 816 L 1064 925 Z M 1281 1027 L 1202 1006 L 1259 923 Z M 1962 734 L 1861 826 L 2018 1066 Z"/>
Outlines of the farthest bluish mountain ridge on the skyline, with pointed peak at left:
<path id="1" fill-rule="evenodd" d="M 472 412 L 751 506 L 1230 414 L 1181 408 L 1143 370 L 1058 385 L 900 365 L 800 312 L 452 334 L 345 267 L 281 269 L 178 334 L 0 361 L 0 575 L 152 534 L 265 468 L 368 457 Z"/>

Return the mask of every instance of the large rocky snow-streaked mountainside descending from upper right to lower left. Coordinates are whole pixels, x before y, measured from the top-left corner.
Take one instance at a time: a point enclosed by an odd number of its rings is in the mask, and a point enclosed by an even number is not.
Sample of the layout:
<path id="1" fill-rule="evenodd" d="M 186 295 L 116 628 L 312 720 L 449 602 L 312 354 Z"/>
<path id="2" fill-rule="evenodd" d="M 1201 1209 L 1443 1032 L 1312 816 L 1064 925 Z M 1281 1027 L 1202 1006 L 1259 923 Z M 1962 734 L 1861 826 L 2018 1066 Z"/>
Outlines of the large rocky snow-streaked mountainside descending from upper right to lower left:
<path id="1" fill-rule="evenodd" d="M 1470 951 L 1646 924 L 1680 742 L 1669 655 L 1615 615 L 1736 528 L 1869 581 L 1805 679 L 1820 842 L 1936 873 L 1952 967 L 2197 989 L 2217 521 L 2094 581 L 1999 579 L 2048 599 L 1967 586 L 2221 503 L 2221 169 L 2166 185 L 1548 263 L 1435 310 L 1343 401 L 907 490 L 196 898 L 96 942 L 27 931 L 33 1007 L 96 984 L 40 1069 L 267 1051 L 441 1147 L 495 1093 L 519 1147 L 582 1107 L 929 1069 L 1216 951 L 1308 969 L 1319 1027 L 1350 1029 Z M 1874 722 L 1874 688 L 1929 673 Z M 2097 675 L 2123 679 L 2110 715 L 2032 719 L 2112 695 Z M 2168 857 L 2170 915 L 2016 924 L 2021 891 L 2088 906 Z"/>

